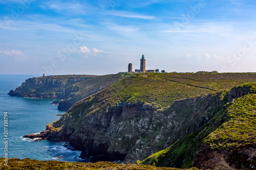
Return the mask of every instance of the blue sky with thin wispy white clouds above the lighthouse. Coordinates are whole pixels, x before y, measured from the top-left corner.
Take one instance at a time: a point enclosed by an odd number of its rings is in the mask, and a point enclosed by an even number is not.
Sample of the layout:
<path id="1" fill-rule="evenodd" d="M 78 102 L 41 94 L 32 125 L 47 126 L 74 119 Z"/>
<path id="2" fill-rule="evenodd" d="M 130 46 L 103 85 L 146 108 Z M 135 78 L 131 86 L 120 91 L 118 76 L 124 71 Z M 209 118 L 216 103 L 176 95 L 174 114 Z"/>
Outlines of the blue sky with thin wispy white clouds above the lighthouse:
<path id="1" fill-rule="evenodd" d="M 256 72 L 256 1 L 0 0 L 0 74 Z"/>

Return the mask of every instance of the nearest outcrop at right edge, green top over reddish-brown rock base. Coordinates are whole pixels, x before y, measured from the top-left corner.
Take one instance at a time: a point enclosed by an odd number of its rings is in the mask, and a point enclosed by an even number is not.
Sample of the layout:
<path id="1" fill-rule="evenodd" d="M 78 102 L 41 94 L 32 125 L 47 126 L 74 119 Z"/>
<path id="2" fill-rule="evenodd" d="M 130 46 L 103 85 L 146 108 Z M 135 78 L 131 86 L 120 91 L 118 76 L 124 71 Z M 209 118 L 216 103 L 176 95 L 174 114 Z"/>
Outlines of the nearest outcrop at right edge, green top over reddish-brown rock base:
<path id="1" fill-rule="evenodd" d="M 255 86 L 249 84 L 230 91 L 232 102 L 224 111 L 227 120 L 202 140 L 194 166 L 227 170 L 256 167 L 255 92 Z M 233 96 L 241 97 L 231 100 Z"/>

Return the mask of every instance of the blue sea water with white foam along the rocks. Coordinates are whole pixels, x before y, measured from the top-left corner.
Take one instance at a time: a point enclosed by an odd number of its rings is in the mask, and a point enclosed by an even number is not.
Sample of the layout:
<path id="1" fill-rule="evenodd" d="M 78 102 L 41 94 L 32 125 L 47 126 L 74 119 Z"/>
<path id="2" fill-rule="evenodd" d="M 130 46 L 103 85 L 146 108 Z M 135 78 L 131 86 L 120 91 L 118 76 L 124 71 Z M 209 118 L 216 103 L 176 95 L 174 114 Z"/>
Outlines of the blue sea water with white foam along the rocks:
<path id="1" fill-rule="evenodd" d="M 53 99 L 29 99 L 7 95 L 10 90 L 20 86 L 26 79 L 33 76 L 4 76 L 0 75 L 0 157 L 5 156 L 4 143 L 4 112 L 8 112 L 8 157 L 31 158 L 37 160 L 82 161 L 80 151 L 72 151 L 63 147 L 63 142 L 38 141 L 23 138 L 26 134 L 38 133 L 46 129 L 60 117 L 56 114 L 65 112 L 57 110 L 51 104 Z"/>

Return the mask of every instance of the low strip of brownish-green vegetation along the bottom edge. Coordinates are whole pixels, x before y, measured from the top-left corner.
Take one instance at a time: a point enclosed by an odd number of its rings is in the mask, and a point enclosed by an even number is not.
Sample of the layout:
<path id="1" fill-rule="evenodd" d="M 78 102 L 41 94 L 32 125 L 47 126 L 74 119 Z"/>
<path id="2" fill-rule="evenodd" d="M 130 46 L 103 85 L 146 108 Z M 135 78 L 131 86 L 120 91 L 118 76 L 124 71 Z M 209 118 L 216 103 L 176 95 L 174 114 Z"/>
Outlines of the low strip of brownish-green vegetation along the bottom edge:
<path id="1" fill-rule="evenodd" d="M 163 170 L 179 170 L 170 167 L 155 167 L 137 164 L 117 164 L 113 162 L 97 162 L 97 163 L 78 163 L 78 162 L 61 162 L 61 161 L 38 161 L 32 159 L 11 158 L 8 160 L 8 166 L 4 165 L 4 158 L 0 158 L 1 169 L 163 169 Z M 197 170 L 197 168 L 191 168 Z"/>

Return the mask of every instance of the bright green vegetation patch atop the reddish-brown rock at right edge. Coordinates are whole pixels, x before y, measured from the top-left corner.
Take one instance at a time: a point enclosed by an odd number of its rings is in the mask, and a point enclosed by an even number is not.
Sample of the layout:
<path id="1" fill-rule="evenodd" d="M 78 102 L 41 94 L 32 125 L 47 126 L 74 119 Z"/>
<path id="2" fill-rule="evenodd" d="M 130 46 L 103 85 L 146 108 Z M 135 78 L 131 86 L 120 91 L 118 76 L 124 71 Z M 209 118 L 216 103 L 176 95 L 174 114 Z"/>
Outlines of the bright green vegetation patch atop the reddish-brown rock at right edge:
<path id="1" fill-rule="evenodd" d="M 204 139 L 211 149 L 256 146 L 256 94 L 244 95 L 227 109 L 228 121 Z"/>

